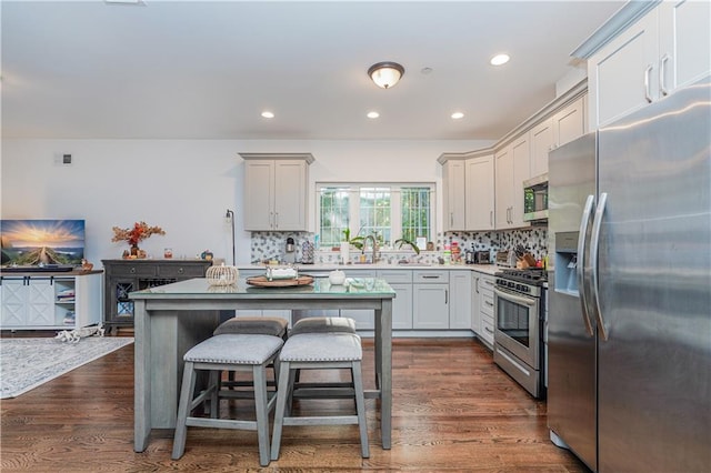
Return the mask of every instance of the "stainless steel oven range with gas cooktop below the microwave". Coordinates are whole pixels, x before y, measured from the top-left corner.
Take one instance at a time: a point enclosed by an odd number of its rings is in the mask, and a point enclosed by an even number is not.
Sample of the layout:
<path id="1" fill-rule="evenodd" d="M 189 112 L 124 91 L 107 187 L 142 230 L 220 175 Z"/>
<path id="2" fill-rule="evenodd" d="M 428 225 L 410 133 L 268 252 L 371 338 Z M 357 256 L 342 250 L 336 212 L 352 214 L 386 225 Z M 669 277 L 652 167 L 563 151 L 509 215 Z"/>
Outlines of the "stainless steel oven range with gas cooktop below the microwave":
<path id="1" fill-rule="evenodd" d="M 547 273 L 511 269 L 494 275 L 493 361 L 534 397 L 544 397 Z"/>

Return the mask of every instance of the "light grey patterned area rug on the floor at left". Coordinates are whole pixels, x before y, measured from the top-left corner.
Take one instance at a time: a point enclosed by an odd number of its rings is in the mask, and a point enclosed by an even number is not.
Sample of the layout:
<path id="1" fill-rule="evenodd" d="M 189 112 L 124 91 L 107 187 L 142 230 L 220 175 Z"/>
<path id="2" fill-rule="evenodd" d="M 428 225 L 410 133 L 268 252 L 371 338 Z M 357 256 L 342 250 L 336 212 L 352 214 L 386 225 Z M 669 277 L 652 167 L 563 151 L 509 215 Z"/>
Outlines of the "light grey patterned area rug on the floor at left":
<path id="1" fill-rule="evenodd" d="M 79 343 L 0 339 L 0 399 L 17 397 L 130 343 L 133 339 L 128 336 L 90 336 Z"/>

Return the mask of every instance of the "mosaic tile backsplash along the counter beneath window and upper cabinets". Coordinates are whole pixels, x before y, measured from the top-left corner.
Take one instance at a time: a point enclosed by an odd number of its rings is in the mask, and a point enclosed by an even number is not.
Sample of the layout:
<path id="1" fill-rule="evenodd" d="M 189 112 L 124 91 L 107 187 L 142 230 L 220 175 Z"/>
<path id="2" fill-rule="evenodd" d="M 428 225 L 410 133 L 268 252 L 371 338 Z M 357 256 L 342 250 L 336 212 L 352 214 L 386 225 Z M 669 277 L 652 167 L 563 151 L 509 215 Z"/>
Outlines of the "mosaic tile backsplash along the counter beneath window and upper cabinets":
<path id="1" fill-rule="evenodd" d="M 296 251 L 287 254 L 287 238 L 294 240 Z M 301 261 L 301 244 L 304 241 L 313 241 L 314 234 L 311 232 L 252 232 L 251 238 L 251 262 L 258 263 L 264 260 Z M 455 241 L 463 251 L 471 250 L 472 244 L 475 251 L 502 251 L 522 244 L 537 260 L 543 259 L 548 251 L 548 229 L 535 227 L 520 230 L 502 230 L 489 232 L 444 232 L 438 234 L 437 251 L 421 251 L 415 255 L 408 250 L 389 250 L 381 253 L 382 259 L 395 263 L 407 259 L 411 263 L 437 263 L 444 243 Z M 360 253 L 352 252 L 351 259 Z M 322 249 L 314 254 L 316 263 L 337 263 L 339 252 Z"/>

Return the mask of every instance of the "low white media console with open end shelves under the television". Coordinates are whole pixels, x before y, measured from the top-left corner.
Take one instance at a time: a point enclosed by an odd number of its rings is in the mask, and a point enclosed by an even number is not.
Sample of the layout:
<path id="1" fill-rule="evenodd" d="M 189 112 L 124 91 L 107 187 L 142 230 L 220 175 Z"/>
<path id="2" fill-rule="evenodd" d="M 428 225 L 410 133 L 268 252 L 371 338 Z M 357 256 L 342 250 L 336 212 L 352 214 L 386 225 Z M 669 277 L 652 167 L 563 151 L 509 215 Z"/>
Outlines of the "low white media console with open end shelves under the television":
<path id="1" fill-rule="evenodd" d="M 73 330 L 101 323 L 101 271 L 0 276 L 0 325 Z"/>

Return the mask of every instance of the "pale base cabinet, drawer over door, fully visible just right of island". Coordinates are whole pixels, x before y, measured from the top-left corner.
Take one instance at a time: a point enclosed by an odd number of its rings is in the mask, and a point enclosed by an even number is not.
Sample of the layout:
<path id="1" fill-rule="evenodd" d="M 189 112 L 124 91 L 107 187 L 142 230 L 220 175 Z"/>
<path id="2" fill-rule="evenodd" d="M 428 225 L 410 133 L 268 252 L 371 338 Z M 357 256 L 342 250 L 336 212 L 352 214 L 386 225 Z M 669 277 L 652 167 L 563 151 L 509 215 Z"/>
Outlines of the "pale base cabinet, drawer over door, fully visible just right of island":
<path id="1" fill-rule="evenodd" d="M 449 329 L 449 271 L 413 271 L 412 328 Z"/>

